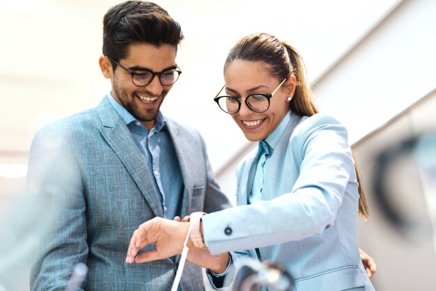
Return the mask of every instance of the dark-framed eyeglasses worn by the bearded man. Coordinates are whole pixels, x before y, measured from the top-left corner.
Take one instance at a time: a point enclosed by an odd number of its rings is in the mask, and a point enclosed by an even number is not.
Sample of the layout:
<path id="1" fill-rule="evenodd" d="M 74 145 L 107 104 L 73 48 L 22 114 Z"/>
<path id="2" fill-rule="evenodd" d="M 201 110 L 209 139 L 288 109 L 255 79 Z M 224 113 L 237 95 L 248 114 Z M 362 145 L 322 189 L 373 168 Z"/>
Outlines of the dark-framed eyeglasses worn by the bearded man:
<path id="1" fill-rule="evenodd" d="M 178 77 L 180 76 L 180 74 L 182 74 L 182 71 L 178 70 L 178 68 L 164 70 L 162 72 L 153 72 L 146 69 L 140 71 L 134 71 L 125 68 L 125 66 L 121 65 L 120 63 L 115 61 L 114 58 L 111 58 L 110 56 L 107 56 L 107 58 L 109 58 L 109 60 L 113 61 L 121 68 L 123 68 L 126 72 L 131 74 L 133 84 L 135 84 L 138 87 L 147 86 L 148 84 L 151 83 L 151 81 L 153 81 L 156 75 L 159 77 L 159 81 L 160 84 L 162 84 L 162 86 L 171 86 L 174 83 L 176 83 Z"/>

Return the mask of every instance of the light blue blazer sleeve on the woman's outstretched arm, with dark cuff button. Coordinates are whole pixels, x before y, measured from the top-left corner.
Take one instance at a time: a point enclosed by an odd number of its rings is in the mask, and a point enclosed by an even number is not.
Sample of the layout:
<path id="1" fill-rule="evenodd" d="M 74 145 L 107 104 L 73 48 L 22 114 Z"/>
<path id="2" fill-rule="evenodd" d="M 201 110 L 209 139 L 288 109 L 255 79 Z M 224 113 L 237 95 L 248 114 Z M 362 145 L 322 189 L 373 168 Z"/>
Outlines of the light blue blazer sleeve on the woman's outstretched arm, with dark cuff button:
<path id="1" fill-rule="evenodd" d="M 307 118 L 296 127 L 288 150 L 300 159 L 292 191 L 203 217 L 211 253 L 298 241 L 334 223 L 354 171 L 346 129 L 333 118 Z"/>

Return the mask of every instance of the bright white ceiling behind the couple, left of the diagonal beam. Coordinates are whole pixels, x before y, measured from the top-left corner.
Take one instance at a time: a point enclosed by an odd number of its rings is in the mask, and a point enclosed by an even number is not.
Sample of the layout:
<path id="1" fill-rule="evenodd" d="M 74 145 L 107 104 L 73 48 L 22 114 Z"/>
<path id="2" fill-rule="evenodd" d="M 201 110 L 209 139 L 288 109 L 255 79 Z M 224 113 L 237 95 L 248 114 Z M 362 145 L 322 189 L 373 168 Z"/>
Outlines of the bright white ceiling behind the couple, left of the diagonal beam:
<path id="1" fill-rule="evenodd" d="M 98 68 L 102 17 L 120 1 L 0 0 L 0 163 L 25 163 L 41 125 L 93 107 L 110 84 Z M 155 1 L 185 34 L 182 77 L 162 106 L 167 116 L 200 130 L 217 169 L 246 143 L 212 97 L 238 38 L 265 31 L 302 54 L 309 80 L 341 58 L 399 0 Z"/>

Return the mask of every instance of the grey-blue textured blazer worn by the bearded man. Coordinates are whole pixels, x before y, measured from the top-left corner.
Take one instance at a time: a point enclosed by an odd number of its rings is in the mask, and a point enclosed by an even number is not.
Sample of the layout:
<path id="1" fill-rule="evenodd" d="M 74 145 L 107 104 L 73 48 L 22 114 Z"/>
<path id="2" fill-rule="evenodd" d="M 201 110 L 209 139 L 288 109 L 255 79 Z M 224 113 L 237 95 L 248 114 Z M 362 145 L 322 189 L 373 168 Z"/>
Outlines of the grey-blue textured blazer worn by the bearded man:
<path id="1" fill-rule="evenodd" d="M 185 183 L 182 215 L 230 206 L 219 191 L 200 134 L 166 120 Z M 171 288 L 178 257 L 125 264 L 134 230 L 163 212 L 147 164 L 107 98 L 36 134 L 28 188 L 50 196 L 47 211 L 54 217 L 36 252 L 31 290 L 64 290 L 78 262 L 89 269 L 85 290 Z M 183 275 L 182 290 L 203 290 L 199 267 L 187 263 Z"/>

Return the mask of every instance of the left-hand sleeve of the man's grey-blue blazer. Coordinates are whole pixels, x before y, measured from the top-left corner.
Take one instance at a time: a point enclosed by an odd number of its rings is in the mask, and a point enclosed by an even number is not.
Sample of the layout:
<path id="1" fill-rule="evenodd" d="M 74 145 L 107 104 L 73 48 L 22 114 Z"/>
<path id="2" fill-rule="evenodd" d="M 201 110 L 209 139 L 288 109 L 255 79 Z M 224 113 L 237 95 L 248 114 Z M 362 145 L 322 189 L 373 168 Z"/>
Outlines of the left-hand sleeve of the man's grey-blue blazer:
<path id="1" fill-rule="evenodd" d="M 31 290 L 65 290 L 72 270 L 86 264 L 86 203 L 77 161 L 61 132 L 46 129 L 32 141 L 27 189 L 48 200 L 47 226 L 31 265 Z"/>

